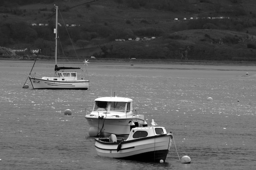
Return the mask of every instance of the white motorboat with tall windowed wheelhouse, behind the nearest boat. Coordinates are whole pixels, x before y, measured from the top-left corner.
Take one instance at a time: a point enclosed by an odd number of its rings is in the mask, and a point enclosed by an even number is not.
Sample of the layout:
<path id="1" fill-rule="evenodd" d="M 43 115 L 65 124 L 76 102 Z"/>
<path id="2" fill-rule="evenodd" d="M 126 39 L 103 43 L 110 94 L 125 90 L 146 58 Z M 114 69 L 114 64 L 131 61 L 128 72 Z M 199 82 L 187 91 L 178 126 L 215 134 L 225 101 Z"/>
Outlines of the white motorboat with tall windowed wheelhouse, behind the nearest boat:
<path id="1" fill-rule="evenodd" d="M 133 127 L 147 126 L 144 115 L 132 109 L 132 99 L 123 97 L 95 99 L 92 111 L 85 118 L 90 136 L 128 135 Z"/>

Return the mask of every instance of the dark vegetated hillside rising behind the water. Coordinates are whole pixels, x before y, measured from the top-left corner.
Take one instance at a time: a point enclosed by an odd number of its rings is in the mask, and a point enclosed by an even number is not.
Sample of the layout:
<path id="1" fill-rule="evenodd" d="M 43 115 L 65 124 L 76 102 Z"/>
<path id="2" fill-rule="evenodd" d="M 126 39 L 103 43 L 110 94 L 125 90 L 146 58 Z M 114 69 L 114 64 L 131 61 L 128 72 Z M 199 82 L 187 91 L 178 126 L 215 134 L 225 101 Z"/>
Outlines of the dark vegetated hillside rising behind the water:
<path id="1" fill-rule="evenodd" d="M 54 55 L 54 4 L 68 57 L 256 61 L 255 0 L 2 0 L 0 46 Z"/>

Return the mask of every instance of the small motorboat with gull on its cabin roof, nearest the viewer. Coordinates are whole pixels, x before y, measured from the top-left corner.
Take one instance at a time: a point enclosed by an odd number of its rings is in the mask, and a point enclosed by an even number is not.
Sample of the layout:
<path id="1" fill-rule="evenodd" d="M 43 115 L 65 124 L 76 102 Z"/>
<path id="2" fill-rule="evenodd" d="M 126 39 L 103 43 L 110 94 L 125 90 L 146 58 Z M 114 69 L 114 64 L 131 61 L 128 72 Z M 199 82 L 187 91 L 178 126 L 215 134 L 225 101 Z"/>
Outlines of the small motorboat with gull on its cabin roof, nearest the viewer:
<path id="1" fill-rule="evenodd" d="M 136 127 L 126 140 L 117 139 L 114 134 L 96 138 L 95 148 L 101 157 L 163 163 L 171 149 L 172 139 L 172 132 L 167 133 L 164 127 Z"/>

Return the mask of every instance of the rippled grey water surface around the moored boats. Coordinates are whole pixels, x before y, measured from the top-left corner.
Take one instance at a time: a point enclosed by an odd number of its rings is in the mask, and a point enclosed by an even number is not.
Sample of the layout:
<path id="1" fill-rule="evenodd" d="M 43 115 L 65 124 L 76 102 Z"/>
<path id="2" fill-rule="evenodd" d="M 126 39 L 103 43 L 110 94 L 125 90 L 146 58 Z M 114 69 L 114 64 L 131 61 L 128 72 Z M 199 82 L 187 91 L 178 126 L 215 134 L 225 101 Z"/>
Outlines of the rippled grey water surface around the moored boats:
<path id="1" fill-rule="evenodd" d="M 48 90 L 26 81 L 34 61 L 0 61 L 1 170 L 255 169 L 256 66 L 89 62 L 89 90 Z M 54 75 L 54 63 L 33 72 Z M 97 156 L 85 110 L 114 95 L 173 132 L 165 163 Z"/>

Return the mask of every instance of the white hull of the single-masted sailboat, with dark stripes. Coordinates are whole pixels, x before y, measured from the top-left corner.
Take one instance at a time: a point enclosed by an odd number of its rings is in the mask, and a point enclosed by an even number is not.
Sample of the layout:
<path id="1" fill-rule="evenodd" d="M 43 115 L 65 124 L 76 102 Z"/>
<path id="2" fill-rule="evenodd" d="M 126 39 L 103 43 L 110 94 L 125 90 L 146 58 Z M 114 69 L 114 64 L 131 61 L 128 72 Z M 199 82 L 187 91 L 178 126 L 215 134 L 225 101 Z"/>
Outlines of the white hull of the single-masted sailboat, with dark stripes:
<path id="1" fill-rule="evenodd" d="M 33 89 L 83 89 L 89 88 L 88 80 L 51 81 L 41 78 L 29 77 Z"/>

